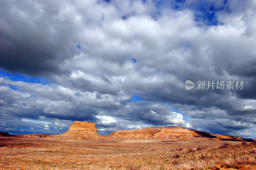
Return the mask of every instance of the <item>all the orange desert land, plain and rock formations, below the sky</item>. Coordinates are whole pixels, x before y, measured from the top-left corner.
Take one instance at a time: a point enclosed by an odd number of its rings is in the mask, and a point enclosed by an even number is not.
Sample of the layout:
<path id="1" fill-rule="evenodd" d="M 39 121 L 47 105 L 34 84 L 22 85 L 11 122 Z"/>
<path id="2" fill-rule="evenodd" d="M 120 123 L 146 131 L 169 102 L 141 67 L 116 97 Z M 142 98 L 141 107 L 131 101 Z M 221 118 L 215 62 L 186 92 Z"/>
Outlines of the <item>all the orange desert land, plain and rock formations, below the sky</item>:
<path id="1" fill-rule="evenodd" d="M 181 127 L 100 136 L 76 121 L 60 135 L 3 133 L 0 169 L 256 169 L 256 143 L 245 141 Z"/>

